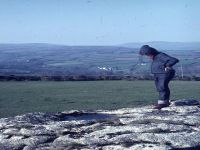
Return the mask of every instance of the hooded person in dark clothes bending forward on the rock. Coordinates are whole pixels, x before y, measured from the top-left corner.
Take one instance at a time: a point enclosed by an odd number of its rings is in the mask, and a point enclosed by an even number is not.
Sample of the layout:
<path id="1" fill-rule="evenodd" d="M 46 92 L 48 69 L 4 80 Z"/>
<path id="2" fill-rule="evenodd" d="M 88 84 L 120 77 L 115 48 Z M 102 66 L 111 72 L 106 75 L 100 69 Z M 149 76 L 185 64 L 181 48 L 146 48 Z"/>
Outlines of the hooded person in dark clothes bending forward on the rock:
<path id="1" fill-rule="evenodd" d="M 172 66 L 179 62 L 179 60 L 159 52 L 148 45 L 143 45 L 140 48 L 139 54 L 146 55 L 153 60 L 151 64 L 151 73 L 154 74 L 156 89 L 159 92 L 158 104 L 155 105 L 154 109 L 168 107 L 170 105 L 170 89 L 168 84 L 175 75 L 175 70 Z"/>

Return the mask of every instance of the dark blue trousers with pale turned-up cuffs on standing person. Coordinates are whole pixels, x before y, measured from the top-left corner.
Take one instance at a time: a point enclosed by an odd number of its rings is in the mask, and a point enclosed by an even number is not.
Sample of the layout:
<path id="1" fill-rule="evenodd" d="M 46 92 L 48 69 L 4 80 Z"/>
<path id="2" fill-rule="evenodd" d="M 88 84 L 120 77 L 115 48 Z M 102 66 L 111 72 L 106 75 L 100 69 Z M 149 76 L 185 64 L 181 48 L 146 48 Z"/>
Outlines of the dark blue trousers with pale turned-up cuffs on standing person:
<path id="1" fill-rule="evenodd" d="M 168 73 L 154 74 L 156 89 L 159 92 L 158 104 L 169 104 L 170 89 L 168 84 L 174 75 L 174 70 L 170 70 Z"/>

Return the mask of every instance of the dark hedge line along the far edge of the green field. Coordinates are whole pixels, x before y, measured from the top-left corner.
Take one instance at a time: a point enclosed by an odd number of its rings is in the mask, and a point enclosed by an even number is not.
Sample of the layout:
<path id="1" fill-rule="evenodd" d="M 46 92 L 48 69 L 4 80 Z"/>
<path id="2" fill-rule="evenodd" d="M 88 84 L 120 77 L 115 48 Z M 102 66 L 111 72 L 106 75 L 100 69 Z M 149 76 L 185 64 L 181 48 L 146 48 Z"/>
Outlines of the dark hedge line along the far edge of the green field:
<path id="1" fill-rule="evenodd" d="M 153 80 L 151 75 L 70 75 L 70 76 L 21 76 L 0 75 L 0 81 L 98 81 L 98 80 Z M 200 76 L 175 76 L 174 80 L 200 81 Z"/>

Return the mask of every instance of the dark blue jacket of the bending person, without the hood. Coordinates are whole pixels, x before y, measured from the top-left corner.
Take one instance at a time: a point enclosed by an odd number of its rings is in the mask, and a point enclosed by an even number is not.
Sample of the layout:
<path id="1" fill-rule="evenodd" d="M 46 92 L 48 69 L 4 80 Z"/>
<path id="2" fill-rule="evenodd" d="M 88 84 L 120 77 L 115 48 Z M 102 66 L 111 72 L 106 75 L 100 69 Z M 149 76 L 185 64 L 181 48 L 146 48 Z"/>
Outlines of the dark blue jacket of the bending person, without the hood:
<path id="1" fill-rule="evenodd" d="M 158 52 L 158 54 L 154 56 L 151 64 L 151 73 L 167 73 L 165 71 L 165 67 L 172 67 L 178 62 L 179 60 L 177 58 L 171 57 L 162 52 Z"/>

